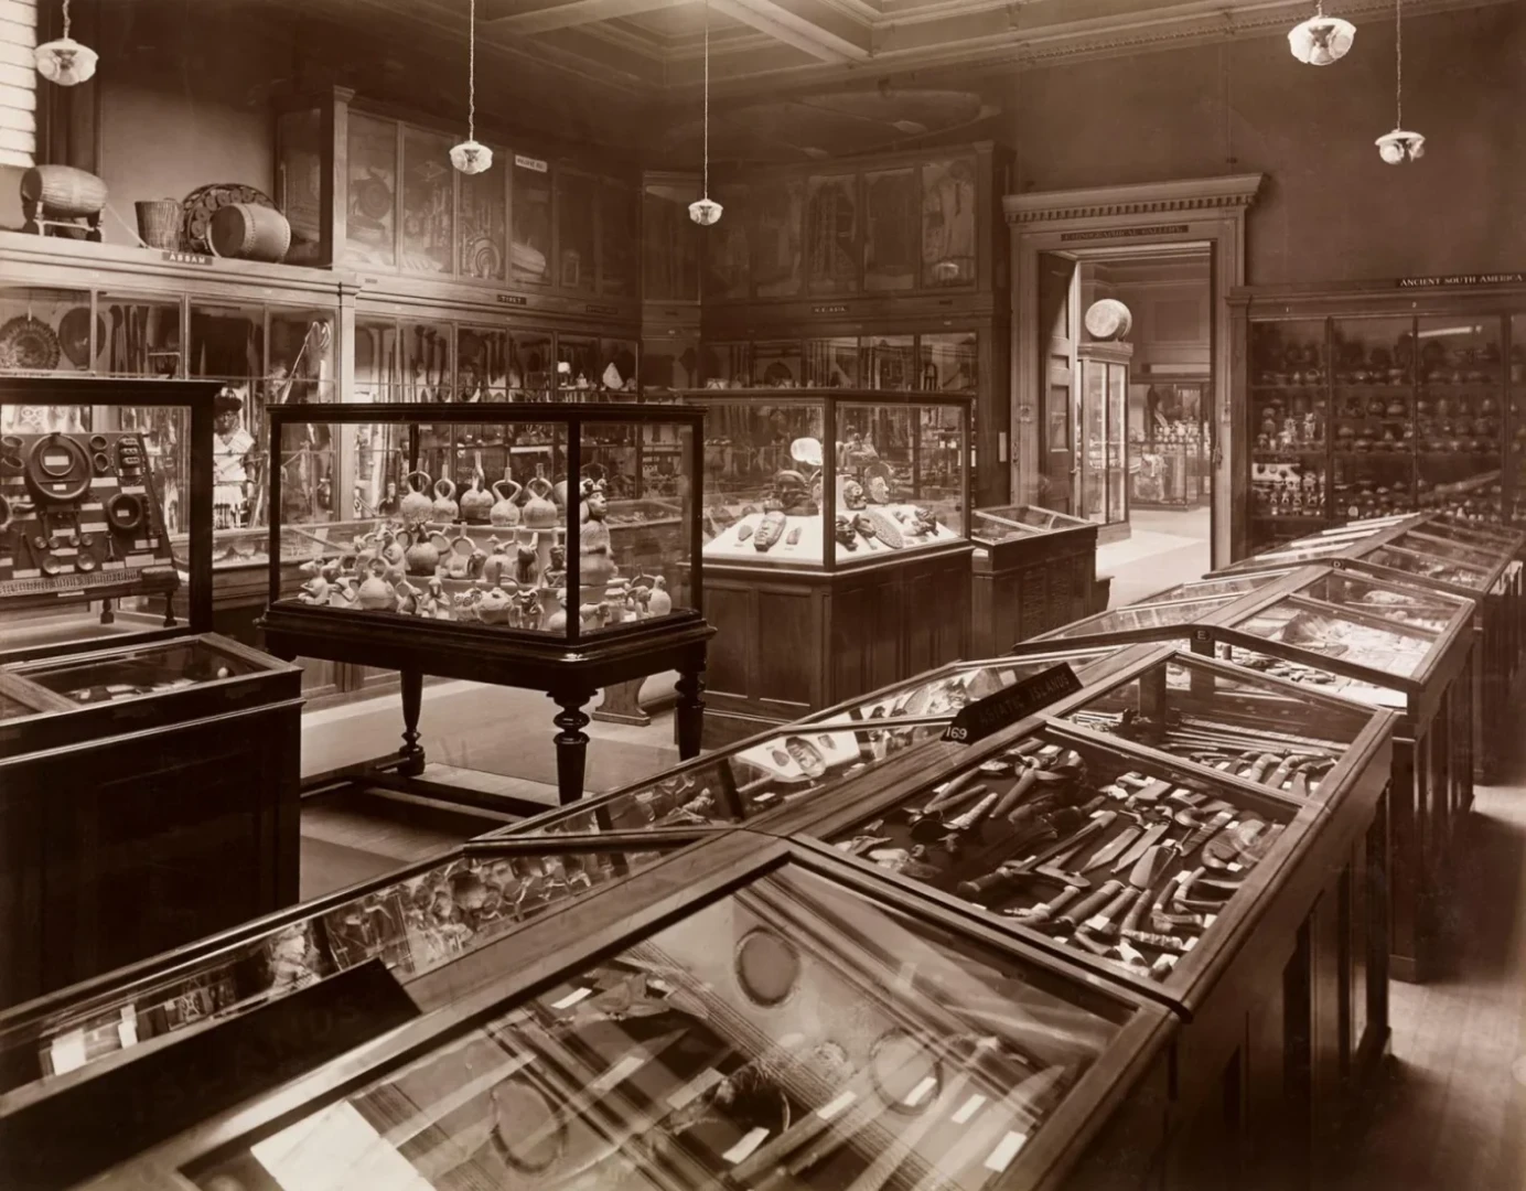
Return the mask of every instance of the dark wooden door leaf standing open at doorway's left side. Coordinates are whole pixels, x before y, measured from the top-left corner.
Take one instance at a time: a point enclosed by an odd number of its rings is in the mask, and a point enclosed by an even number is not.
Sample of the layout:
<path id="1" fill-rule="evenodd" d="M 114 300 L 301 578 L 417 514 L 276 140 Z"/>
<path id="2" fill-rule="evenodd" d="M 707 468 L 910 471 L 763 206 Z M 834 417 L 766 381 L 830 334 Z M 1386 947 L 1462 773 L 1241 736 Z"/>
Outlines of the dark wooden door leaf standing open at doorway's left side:
<path id="1" fill-rule="evenodd" d="M 1076 501 L 1076 261 L 1041 252 L 1039 267 L 1039 504 L 1074 513 Z"/>

